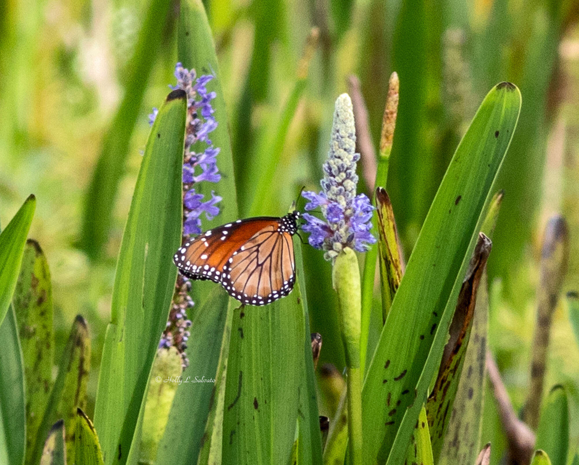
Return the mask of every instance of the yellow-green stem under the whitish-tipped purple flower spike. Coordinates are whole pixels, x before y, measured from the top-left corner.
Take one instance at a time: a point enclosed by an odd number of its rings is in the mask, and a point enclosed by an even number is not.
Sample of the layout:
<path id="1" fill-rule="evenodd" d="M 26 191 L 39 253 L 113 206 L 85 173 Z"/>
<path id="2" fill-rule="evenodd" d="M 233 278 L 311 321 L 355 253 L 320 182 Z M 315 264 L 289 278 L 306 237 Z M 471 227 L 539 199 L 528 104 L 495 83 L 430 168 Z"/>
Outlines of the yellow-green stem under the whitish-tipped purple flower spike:
<path id="1" fill-rule="evenodd" d="M 346 247 L 334 261 L 334 289 L 346 353 L 348 455 L 350 465 L 362 464 L 362 378 L 360 369 L 361 284 L 358 258 Z"/>

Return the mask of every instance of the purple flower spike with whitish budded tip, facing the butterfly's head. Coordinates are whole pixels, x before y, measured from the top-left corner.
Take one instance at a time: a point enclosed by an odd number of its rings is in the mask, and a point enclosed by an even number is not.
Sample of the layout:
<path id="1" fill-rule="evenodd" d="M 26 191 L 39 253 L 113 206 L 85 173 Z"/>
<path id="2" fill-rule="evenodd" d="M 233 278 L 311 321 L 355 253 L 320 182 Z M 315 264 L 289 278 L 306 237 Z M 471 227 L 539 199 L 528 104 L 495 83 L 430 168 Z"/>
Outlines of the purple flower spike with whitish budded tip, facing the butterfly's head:
<path id="1" fill-rule="evenodd" d="M 310 245 L 325 250 L 326 260 L 334 260 L 345 247 L 364 252 L 376 242 L 370 232 L 374 207 L 366 195 L 356 195 L 356 162 L 360 154 L 355 150 L 352 103 L 347 94 L 342 94 L 336 100 L 330 148 L 323 165 L 324 179 L 320 181 L 322 191 L 302 192 L 308 201 L 306 210 L 320 207 L 326 219 L 304 213 L 306 224 L 302 227 L 310 233 Z"/>

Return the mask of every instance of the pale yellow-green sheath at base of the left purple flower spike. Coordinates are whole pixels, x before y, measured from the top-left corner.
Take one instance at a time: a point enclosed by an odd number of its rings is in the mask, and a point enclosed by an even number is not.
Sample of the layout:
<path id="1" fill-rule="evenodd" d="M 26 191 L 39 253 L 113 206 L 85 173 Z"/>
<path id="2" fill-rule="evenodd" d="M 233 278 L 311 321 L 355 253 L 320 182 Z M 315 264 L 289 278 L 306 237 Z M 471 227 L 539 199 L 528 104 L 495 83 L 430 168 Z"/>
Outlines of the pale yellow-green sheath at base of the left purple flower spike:
<path id="1" fill-rule="evenodd" d="M 177 387 L 182 382 L 181 364 L 181 355 L 175 347 L 157 352 L 149 379 L 142 422 L 139 454 L 142 463 L 155 463 L 157 446 L 163 437 Z"/>

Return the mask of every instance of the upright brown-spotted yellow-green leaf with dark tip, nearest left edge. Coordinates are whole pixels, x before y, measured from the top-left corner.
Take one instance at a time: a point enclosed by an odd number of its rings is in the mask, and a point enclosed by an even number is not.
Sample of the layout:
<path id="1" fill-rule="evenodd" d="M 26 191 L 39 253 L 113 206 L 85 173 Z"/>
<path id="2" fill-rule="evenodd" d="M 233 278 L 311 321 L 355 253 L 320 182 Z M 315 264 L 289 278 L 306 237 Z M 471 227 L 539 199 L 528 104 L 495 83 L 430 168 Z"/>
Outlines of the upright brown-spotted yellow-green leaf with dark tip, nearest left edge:
<path id="1" fill-rule="evenodd" d="M 28 239 L 14 291 L 26 380 L 26 451 L 28 459 L 52 389 L 54 331 L 52 284 L 46 257 L 38 242 Z"/>

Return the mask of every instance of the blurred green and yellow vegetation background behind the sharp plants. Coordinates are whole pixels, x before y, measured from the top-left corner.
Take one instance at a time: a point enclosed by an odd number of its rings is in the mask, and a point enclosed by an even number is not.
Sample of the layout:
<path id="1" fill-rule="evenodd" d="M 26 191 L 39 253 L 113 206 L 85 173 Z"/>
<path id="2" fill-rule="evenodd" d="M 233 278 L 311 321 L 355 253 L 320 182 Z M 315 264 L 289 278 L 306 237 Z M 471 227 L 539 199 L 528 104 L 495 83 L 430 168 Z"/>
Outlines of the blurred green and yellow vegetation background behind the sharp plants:
<path id="1" fill-rule="evenodd" d="M 40 242 L 50 264 L 56 359 L 80 313 L 91 328 L 93 373 L 98 372 L 116 255 L 149 132 L 147 115 L 174 83 L 177 9 L 170 5 L 167 17 L 145 21 L 160 3 L 0 2 L 0 223 L 7 224 L 23 199 L 36 194 L 30 237 Z M 554 213 L 565 215 L 570 228 L 563 292 L 579 287 L 579 3 L 204 3 L 228 108 L 228 121 L 215 117 L 232 136 L 242 216 L 283 215 L 302 186 L 319 188 L 334 100 L 351 92 L 351 74 L 360 79 L 377 146 L 388 78 L 397 71 L 400 109 L 387 188 L 408 257 L 446 164 L 483 96 L 500 81 L 519 86 L 521 118 L 497 186 L 505 197 L 489 260 L 489 340 L 515 408 L 520 408 L 529 379 L 540 244 L 544 224 Z M 304 80 L 299 61 L 312 27 L 319 28 L 318 46 Z M 138 43 L 145 44 L 145 61 L 131 59 Z M 134 130 L 130 118 L 114 119 L 127 90 L 135 96 Z M 297 97 L 294 111 L 291 101 Z M 284 108 L 291 111 L 284 114 Z M 284 118 L 289 127 L 280 140 L 276 135 Z M 128 150 L 120 144 L 111 151 L 124 168 L 118 170 L 105 244 L 94 259 L 83 251 L 86 243 L 79 246 L 83 212 L 102 141 L 114 125 L 122 126 L 117 129 L 127 135 Z M 272 177 L 263 176 L 267 162 L 276 157 Z M 364 172 L 371 172 L 372 165 L 363 158 L 359 168 L 361 186 L 370 194 L 373 177 Z M 252 205 L 255 198 L 262 201 Z M 90 220 L 107 223 L 100 217 Z M 341 370 L 331 268 L 316 250 L 304 252 L 312 330 L 324 337 L 320 363 Z M 569 388 L 571 431 L 577 431 L 579 348 L 560 301 L 546 385 Z M 91 375 L 89 416 L 96 383 Z M 493 462 L 500 457 L 494 446 L 504 442 L 498 434 L 493 403 L 486 402 L 482 441 L 492 439 Z"/>

